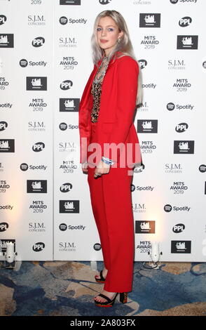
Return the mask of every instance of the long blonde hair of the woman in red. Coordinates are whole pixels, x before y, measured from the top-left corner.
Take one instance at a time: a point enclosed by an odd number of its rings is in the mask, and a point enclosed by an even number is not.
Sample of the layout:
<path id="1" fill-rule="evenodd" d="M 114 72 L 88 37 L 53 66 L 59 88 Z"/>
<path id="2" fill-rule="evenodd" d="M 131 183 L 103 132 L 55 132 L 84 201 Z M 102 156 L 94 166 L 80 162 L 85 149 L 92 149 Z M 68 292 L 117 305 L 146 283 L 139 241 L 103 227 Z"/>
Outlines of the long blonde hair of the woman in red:
<path id="1" fill-rule="evenodd" d="M 102 11 L 97 15 L 97 18 L 95 19 L 94 29 L 92 33 L 92 60 L 95 65 L 97 65 L 97 62 L 102 59 L 104 56 L 104 50 L 99 47 L 98 41 L 97 41 L 97 26 L 99 24 L 100 18 L 104 17 L 110 17 L 116 22 L 116 25 L 118 26 L 119 31 L 123 32 L 123 37 L 121 37 L 120 42 L 116 43 L 116 46 L 114 49 L 109 53 L 109 60 L 111 60 L 112 56 L 114 56 L 114 60 L 116 59 L 116 53 L 118 51 L 121 51 L 123 53 L 122 55 L 118 55 L 118 58 L 121 58 L 122 56 L 128 55 L 131 58 L 133 58 L 139 67 L 139 74 L 138 74 L 138 90 L 137 90 L 137 105 L 142 104 L 142 71 L 139 66 L 139 62 L 135 58 L 135 53 L 133 51 L 132 43 L 130 41 L 130 35 L 128 32 L 128 27 L 125 22 L 125 19 L 123 18 L 123 15 L 121 13 L 118 13 L 118 11 Z"/>

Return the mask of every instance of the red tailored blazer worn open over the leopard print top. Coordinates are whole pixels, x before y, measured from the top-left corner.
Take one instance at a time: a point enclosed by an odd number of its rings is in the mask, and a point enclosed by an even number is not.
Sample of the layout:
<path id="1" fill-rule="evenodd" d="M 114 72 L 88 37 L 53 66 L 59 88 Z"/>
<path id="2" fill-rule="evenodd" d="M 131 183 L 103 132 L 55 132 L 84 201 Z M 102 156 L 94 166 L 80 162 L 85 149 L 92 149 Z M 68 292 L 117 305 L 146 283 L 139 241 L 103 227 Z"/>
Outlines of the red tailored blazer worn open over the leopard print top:
<path id="1" fill-rule="evenodd" d="M 91 88 L 100 63 L 101 60 L 98 62 L 98 66 L 94 65 L 83 91 L 79 107 L 78 128 L 80 133 L 81 163 L 88 161 L 88 145 L 90 144 L 91 136 L 90 112 L 93 104 Z M 119 164 L 120 155 L 123 154 L 125 154 L 129 166 L 142 162 L 139 139 L 133 124 L 138 74 L 139 66 L 137 62 L 128 55 L 115 60 L 112 58 L 109 62 L 102 82 L 102 95 L 95 132 L 95 142 L 101 146 L 101 151 L 97 155 L 97 162 L 104 156 Z M 123 144 L 121 150 L 118 149 L 118 152 L 112 152 L 112 148 L 105 148 L 105 143 Z M 128 148 L 128 143 L 130 143 L 131 149 Z"/>

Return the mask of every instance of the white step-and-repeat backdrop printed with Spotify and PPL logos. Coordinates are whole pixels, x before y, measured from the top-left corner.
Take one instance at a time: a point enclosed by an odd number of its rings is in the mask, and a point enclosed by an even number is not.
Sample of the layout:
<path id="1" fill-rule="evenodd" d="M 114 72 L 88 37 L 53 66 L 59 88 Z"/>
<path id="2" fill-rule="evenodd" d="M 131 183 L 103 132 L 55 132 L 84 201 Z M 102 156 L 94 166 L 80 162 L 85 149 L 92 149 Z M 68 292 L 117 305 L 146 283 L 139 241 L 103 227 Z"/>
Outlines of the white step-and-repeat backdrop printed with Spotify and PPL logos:
<path id="1" fill-rule="evenodd" d="M 102 260 L 78 106 L 107 9 L 123 14 L 143 77 L 135 260 L 152 242 L 163 261 L 206 260 L 203 0 L 0 0 L 1 258 L 13 242 L 17 260 Z"/>

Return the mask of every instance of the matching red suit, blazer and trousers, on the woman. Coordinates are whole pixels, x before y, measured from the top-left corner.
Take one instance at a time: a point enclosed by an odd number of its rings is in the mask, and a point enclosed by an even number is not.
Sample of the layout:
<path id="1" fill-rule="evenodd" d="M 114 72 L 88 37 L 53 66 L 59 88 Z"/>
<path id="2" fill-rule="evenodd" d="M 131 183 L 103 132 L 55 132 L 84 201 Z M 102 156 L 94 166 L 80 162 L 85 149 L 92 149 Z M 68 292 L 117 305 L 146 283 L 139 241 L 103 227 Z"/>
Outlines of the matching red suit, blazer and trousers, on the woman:
<path id="1" fill-rule="evenodd" d="M 98 178 L 94 178 L 95 166 L 89 166 L 88 184 L 104 265 L 108 270 L 104 290 L 128 292 L 132 291 L 135 251 L 131 173 L 133 165 L 142 161 L 139 140 L 133 124 L 139 67 L 130 56 L 111 59 L 102 83 L 98 121 L 92 123 L 91 88 L 96 73 L 95 65 L 83 91 L 79 108 L 80 162 L 84 163 L 90 158 L 93 152 L 88 150 L 90 143 L 98 143 L 101 146 L 96 156 L 97 164 L 102 156 L 116 162 L 111 166 L 109 173 Z M 121 143 L 125 149 L 112 152 L 108 147 L 104 147 L 104 143 Z M 126 147 L 127 143 L 130 143 L 129 149 Z M 122 167 L 120 159 L 124 153 L 126 163 Z M 131 166 L 130 169 L 128 166 Z"/>

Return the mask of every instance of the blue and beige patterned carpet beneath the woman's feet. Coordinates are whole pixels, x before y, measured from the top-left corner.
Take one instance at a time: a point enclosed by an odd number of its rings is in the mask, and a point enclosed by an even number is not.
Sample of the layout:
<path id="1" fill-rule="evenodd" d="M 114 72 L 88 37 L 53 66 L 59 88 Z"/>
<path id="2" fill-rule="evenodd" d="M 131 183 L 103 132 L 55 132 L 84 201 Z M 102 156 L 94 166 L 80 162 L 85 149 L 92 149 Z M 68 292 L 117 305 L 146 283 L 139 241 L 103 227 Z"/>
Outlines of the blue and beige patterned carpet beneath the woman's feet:
<path id="1" fill-rule="evenodd" d="M 98 270 L 103 268 L 97 262 Z M 88 261 L 24 261 L 20 270 L 0 270 L 1 316 L 206 316 L 206 263 L 163 263 L 146 270 L 134 263 L 127 304 L 93 302 L 104 284 Z"/>

